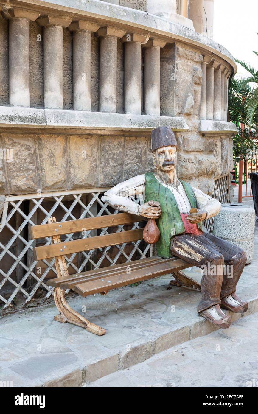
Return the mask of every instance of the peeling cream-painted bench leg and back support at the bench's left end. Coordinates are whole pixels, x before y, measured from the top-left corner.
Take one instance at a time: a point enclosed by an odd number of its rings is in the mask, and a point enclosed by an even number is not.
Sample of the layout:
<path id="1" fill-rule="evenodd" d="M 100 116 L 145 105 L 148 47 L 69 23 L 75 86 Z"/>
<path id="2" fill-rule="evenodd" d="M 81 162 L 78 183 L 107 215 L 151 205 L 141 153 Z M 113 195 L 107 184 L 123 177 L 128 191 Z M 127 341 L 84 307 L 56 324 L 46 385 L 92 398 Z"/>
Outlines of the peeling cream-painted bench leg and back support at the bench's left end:
<path id="1" fill-rule="evenodd" d="M 55 217 L 49 217 L 48 223 L 56 223 Z M 53 244 L 61 242 L 60 236 L 52 236 L 51 240 Z M 55 257 L 55 268 L 58 277 L 68 276 L 68 269 L 65 262 L 65 256 Z M 80 315 L 80 313 L 76 312 L 76 310 L 70 308 L 70 306 L 65 300 L 65 289 L 60 289 L 59 287 L 55 288 L 54 299 L 55 305 L 60 312 L 60 315 L 55 315 L 54 320 L 61 323 L 73 323 L 74 325 L 81 326 L 82 328 L 85 328 L 88 332 L 92 332 L 93 334 L 99 336 L 104 335 L 106 333 L 106 330 L 104 328 L 101 328 L 100 326 L 89 322 L 86 318 Z"/>

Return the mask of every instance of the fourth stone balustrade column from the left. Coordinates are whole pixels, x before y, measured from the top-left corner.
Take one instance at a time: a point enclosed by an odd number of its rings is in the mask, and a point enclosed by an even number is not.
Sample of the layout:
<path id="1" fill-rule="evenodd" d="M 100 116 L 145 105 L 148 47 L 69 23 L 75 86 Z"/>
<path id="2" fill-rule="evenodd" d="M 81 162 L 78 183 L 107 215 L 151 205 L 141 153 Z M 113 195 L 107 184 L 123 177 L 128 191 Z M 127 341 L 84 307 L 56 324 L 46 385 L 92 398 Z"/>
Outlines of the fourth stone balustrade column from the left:
<path id="1" fill-rule="evenodd" d="M 99 112 L 116 112 L 116 53 L 117 38 L 125 31 L 113 27 L 101 27 L 99 45 Z"/>

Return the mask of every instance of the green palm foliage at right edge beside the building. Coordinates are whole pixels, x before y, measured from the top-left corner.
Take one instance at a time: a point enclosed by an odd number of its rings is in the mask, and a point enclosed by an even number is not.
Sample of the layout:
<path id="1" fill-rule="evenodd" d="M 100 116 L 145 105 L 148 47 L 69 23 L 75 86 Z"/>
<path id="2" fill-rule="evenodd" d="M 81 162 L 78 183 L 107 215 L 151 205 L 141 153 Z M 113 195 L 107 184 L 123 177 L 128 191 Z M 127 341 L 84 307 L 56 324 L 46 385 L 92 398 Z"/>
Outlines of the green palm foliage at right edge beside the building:
<path id="1" fill-rule="evenodd" d="M 258 52 L 253 51 L 256 55 Z M 234 161 L 239 156 L 244 158 L 250 154 L 250 149 L 258 143 L 258 70 L 252 65 L 236 59 L 248 72 L 248 76 L 229 80 L 229 119 L 238 128 L 238 134 L 233 139 Z M 244 124 L 241 128 L 240 124 Z"/>

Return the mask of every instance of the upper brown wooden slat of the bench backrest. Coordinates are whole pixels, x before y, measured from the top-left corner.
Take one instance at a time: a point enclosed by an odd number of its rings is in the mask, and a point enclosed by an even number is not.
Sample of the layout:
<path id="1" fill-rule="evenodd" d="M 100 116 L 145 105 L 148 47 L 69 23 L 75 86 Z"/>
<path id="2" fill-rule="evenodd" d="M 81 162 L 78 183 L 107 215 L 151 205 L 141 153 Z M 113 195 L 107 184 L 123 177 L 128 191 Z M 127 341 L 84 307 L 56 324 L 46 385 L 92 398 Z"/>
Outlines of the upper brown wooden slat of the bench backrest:
<path id="1" fill-rule="evenodd" d="M 69 220 L 61 221 L 59 223 L 29 226 L 29 235 L 31 239 L 36 239 L 49 236 L 58 236 L 60 234 L 76 233 L 84 230 L 103 229 L 105 227 L 113 227 L 120 224 L 133 224 L 137 223 L 138 221 L 146 220 L 146 217 L 136 216 L 134 214 L 110 214 L 100 217 L 90 217 L 87 219 Z"/>

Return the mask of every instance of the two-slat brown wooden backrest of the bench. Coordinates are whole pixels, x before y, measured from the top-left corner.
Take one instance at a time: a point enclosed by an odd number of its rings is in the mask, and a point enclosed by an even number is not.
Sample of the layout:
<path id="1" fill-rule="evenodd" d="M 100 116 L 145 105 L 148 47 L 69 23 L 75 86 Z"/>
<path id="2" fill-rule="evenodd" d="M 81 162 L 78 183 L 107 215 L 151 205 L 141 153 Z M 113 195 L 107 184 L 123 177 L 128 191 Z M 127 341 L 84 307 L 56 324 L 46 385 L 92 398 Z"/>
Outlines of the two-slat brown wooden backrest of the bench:
<path id="1" fill-rule="evenodd" d="M 94 229 L 104 229 L 122 224 L 133 224 L 139 221 L 146 221 L 142 216 L 136 216 L 128 213 L 110 214 L 88 219 L 62 221 L 50 224 L 39 224 L 29 227 L 31 239 L 60 236 L 62 234 L 76 233 L 80 231 L 90 231 Z M 116 244 L 128 243 L 130 241 L 142 240 L 144 229 L 125 230 L 118 233 L 105 234 L 103 236 L 94 236 L 82 238 L 64 243 L 49 244 L 46 246 L 34 247 L 35 260 L 54 258 L 70 253 L 78 253 L 85 250 L 91 250 Z"/>

